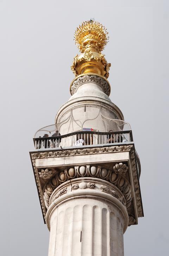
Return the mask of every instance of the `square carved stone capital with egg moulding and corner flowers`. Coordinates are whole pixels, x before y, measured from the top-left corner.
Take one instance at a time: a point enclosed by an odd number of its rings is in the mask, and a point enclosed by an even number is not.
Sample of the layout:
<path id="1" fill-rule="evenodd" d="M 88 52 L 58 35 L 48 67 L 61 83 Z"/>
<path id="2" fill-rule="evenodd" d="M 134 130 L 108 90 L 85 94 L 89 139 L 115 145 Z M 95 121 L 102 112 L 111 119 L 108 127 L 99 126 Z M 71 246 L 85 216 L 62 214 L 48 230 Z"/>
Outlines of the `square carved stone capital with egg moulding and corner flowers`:
<path id="1" fill-rule="evenodd" d="M 134 152 L 133 144 L 31 152 L 44 218 L 55 189 L 61 186 L 57 197 L 67 193 L 62 187 L 63 183 L 69 181 L 74 183 L 72 191 L 96 189 L 96 183 L 92 179 L 99 179 L 103 183 L 101 184 L 103 186 L 99 187 L 101 192 L 118 198 L 114 189 L 104 185 L 106 181 L 123 194 L 123 199 L 119 197 L 118 200 L 126 207 L 129 216 L 133 216 L 136 220 L 133 224 L 137 224 L 138 217 L 143 216 L 143 210 Z M 121 162 L 122 158 L 124 158 L 123 162 Z M 73 159 L 71 166 L 69 159 Z M 78 161 L 79 164 L 73 164 L 74 161 Z M 90 164 L 86 164 L 87 162 Z M 89 179 L 88 182 L 83 183 L 83 179 L 86 178 Z M 81 183 L 75 183 L 76 179 L 82 179 Z"/>

